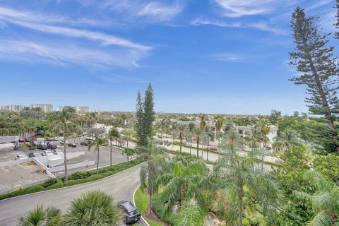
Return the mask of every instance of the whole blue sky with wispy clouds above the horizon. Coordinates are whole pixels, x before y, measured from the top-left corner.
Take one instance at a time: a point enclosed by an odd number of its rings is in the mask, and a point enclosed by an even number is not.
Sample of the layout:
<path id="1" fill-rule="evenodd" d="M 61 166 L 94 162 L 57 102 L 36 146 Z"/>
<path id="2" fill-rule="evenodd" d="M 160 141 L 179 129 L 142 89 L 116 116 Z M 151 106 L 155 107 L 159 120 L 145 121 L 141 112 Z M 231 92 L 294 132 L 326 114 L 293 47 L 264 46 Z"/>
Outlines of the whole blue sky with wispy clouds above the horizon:
<path id="1" fill-rule="evenodd" d="M 296 6 L 333 32 L 335 0 L 0 0 L 0 105 L 307 112 L 289 78 Z M 331 40 L 332 45 L 338 45 Z"/>

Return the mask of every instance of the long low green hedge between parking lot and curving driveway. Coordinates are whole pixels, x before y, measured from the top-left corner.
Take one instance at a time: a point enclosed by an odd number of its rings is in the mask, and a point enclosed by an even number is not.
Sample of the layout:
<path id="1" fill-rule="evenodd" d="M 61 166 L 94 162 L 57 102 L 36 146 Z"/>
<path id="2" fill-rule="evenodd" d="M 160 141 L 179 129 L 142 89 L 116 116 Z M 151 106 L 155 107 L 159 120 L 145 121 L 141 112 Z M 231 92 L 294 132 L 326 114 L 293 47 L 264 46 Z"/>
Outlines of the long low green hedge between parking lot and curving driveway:
<path id="1" fill-rule="evenodd" d="M 72 186 L 76 184 L 83 184 L 86 182 L 93 182 L 98 179 L 103 179 L 105 177 L 121 172 L 125 169 L 129 169 L 131 167 L 139 165 L 142 162 L 145 162 L 145 159 L 139 157 L 133 160 L 132 162 L 121 162 L 121 163 L 118 163 L 117 165 L 112 165 L 112 167 L 111 166 L 102 167 L 99 169 L 99 174 L 96 174 L 97 173 L 96 169 L 91 169 L 91 170 L 88 170 L 87 172 L 75 172 L 69 176 L 69 180 L 67 182 L 64 182 L 63 179 L 48 179 L 46 182 L 42 184 L 36 184 L 33 186 L 29 186 L 27 188 L 20 189 L 18 191 L 13 191 L 8 194 L 1 194 L 0 200 L 5 199 L 5 198 L 22 196 L 25 194 L 32 194 L 32 193 L 39 192 L 39 191 L 59 189 L 64 186 Z"/>

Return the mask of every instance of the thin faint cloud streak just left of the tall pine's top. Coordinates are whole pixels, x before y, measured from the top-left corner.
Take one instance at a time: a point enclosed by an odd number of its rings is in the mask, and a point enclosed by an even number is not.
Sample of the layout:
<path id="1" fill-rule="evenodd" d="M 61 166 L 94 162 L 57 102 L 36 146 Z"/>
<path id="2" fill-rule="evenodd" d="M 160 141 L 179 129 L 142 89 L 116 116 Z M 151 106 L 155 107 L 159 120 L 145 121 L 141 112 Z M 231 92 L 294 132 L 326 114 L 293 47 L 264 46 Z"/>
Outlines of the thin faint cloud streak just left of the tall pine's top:
<path id="1" fill-rule="evenodd" d="M 227 23 L 222 20 L 206 20 L 206 19 L 196 18 L 195 20 L 191 21 L 191 25 L 195 25 L 195 26 L 214 25 L 214 26 L 225 27 L 225 28 L 255 28 L 258 30 L 273 32 L 275 34 L 280 34 L 280 35 L 287 34 L 286 30 L 275 28 L 271 26 L 269 23 L 264 22 L 264 21 L 256 22 L 256 23 L 240 23 L 240 22 Z"/>

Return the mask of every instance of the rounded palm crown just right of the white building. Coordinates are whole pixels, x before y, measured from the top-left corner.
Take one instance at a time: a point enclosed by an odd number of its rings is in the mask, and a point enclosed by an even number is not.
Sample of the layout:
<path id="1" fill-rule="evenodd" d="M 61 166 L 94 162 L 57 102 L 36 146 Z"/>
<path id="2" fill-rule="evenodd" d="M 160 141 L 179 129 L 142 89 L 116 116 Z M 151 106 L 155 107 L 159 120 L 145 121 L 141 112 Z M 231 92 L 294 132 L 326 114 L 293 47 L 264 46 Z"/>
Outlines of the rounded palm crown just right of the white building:
<path id="1" fill-rule="evenodd" d="M 273 143 L 273 149 L 286 150 L 291 146 L 299 146 L 301 144 L 302 141 L 300 141 L 297 132 L 290 129 L 286 129 L 285 131 L 280 133 L 280 136 L 277 136 L 275 138 L 275 141 Z"/>

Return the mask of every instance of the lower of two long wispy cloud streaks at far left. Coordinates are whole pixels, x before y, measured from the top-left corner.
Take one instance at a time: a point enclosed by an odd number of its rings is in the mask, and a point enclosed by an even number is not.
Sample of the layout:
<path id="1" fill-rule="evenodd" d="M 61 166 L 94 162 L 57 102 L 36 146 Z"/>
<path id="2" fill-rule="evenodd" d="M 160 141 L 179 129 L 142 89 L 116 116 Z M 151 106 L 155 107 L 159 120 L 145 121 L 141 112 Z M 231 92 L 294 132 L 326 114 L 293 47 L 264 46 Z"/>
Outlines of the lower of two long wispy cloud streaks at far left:
<path id="1" fill-rule="evenodd" d="M 0 40 L 0 58 L 28 62 L 46 62 L 58 66 L 81 64 L 107 68 L 109 66 L 138 67 L 140 52 L 115 49 L 112 53 L 102 49 L 76 47 L 65 44 L 42 44 L 23 40 Z"/>

